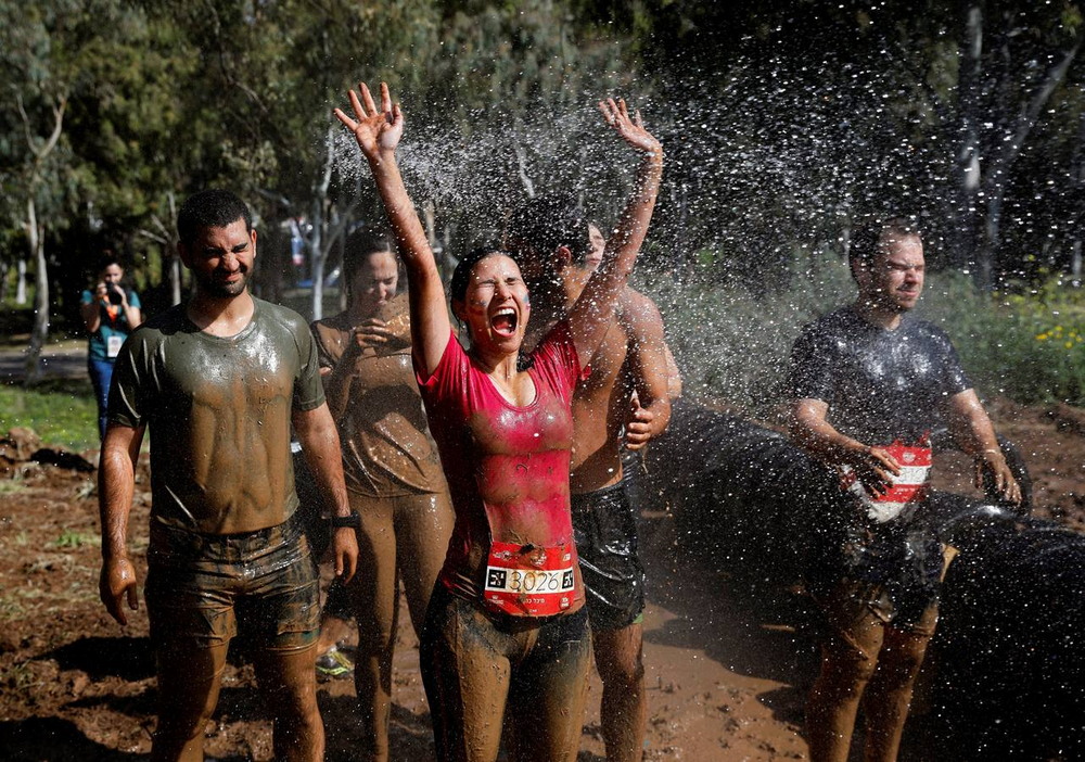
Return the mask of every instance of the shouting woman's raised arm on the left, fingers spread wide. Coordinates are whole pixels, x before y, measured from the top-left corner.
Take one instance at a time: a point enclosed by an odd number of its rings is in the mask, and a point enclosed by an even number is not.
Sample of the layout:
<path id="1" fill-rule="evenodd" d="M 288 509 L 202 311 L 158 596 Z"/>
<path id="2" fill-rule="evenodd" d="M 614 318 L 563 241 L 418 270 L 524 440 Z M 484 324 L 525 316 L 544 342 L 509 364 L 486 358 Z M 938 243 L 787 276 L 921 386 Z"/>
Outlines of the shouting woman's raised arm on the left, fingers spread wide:
<path id="1" fill-rule="evenodd" d="M 396 164 L 396 147 L 403 137 L 404 115 L 398 104 L 393 105 L 386 84 L 381 82 L 380 109 L 365 82 L 359 90 L 360 97 L 354 90 L 348 93 L 354 118 L 341 109 L 335 110 L 335 116 L 354 134 L 373 173 L 376 191 L 384 202 L 384 211 L 409 276 L 414 360 L 426 373 L 432 373 L 448 345 L 451 323 L 433 251 Z"/>

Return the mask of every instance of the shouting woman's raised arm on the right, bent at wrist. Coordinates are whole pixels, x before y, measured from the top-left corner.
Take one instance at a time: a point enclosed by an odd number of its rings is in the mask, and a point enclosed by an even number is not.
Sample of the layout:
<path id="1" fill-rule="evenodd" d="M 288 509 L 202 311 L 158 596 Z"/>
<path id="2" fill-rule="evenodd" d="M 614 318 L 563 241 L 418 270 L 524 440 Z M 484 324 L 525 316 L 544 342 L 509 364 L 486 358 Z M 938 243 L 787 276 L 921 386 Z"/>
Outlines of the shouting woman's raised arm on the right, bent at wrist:
<path id="1" fill-rule="evenodd" d="M 576 352 L 583 364 L 591 358 L 602 343 L 603 335 L 614 315 L 626 280 L 633 271 L 640 245 L 644 242 L 648 224 L 655 208 L 655 196 L 663 177 L 663 147 L 640 119 L 640 113 L 629 116 L 625 101 L 608 99 L 599 103 L 607 124 L 629 145 L 641 152 L 633 195 L 618 219 L 614 234 L 607 241 L 603 259 L 591 275 L 579 299 L 569 313 Z"/>

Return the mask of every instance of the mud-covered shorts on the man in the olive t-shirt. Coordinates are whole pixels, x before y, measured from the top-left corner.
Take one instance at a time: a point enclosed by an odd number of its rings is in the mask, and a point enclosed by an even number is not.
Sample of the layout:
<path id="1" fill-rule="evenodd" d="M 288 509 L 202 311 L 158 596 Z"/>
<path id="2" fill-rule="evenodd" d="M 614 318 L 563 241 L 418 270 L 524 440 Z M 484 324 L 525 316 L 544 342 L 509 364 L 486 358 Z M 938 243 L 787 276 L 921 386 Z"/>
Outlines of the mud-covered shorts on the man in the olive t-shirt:
<path id="1" fill-rule="evenodd" d="M 144 597 L 157 643 L 215 646 L 240 633 L 258 648 L 307 648 L 320 633 L 319 582 L 296 519 L 226 535 L 152 521 Z"/>

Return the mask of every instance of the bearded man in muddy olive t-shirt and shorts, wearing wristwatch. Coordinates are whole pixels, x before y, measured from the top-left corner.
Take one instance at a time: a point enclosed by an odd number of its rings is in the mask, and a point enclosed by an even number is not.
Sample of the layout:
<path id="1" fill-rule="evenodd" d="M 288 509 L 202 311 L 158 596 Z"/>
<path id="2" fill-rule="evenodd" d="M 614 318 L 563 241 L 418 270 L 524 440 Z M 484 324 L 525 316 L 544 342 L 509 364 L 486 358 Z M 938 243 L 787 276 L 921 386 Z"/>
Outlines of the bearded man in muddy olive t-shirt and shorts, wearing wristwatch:
<path id="1" fill-rule="evenodd" d="M 245 204 L 204 191 L 177 218 L 195 291 L 140 327 L 116 360 L 102 443 L 101 597 L 120 624 L 138 608 L 128 558 L 136 459 L 151 430 L 145 597 L 158 673 L 151 759 L 203 759 L 230 639 L 243 632 L 275 717 L 275 755 L 323 759 L 314 647 L 319 579 L 295 515 L 293 424 L 329 498 L 335 573 L 358 546 L 335 423 L 305 320 L 246 289 L 256 231 Z"/>

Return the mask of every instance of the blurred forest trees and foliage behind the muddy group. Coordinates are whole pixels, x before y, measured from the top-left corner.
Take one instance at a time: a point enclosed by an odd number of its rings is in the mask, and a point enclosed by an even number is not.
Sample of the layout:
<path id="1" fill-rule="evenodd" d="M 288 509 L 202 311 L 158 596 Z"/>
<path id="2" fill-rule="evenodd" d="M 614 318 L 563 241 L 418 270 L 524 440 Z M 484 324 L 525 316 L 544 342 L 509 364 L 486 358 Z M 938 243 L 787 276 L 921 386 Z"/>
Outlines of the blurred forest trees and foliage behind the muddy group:
<path id="1" fill-rule="evenodd" d="M 258 294 L 309 317 L 335 308 L 343 233 L 381 215 L 330 112 L 359 79 L 384 79 L 444 262 L 544 190 L 612 221 L 631 162 L 592 104 L 621 93 L 640 107 L 668 163 L 639 276 L 679 359 L 704 360 L 699 383 L 751 353 L 786 355 L 791 328 L 779 346 L 757 336 L 821 308 L 796 313 L 796 299 L 839 301 L 827 289 L 846 288 L 851 220 L 871 208 L 920 215 L 941 303 L 996 310 L 960 329 L 976 353 L 1057 343 L 1030 361 L 1064 363 L 1085 354 L 1071 325 L 1085 323 L 1082 22 L 1062 0 L 0 0 L 4 322 L 22 318 L 31 355 L 47 330 L 78 334 L 106 250 L 146 313 L 177 301 L 176 207 L 208 186 L 257 214 Z M 1013 321 L 1016 338 L 991 335 Z M 689 335 L 710 327 L 741 341 Z M 1085 361 L 1072 364 L 1041 396 L 1085 398 Z M 994 391 L 1007 372 L 991 371 Z"/>

